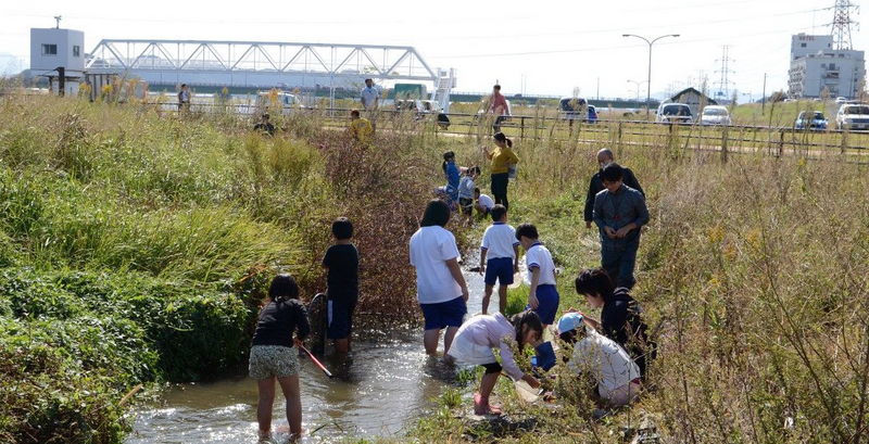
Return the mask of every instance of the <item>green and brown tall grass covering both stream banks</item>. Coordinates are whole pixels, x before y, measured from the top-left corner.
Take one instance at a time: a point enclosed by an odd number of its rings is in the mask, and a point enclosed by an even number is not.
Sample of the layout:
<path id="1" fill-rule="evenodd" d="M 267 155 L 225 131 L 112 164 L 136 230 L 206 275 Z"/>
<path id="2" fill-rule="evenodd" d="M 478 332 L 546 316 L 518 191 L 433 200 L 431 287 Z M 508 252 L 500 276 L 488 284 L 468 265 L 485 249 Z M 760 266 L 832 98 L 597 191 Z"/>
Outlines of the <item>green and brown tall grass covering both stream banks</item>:
<path id="1" fill-rule="evenodd" d="M 243 364 L 264 283 L 287 269 L 305 294 L 320 289 L 338 215 L 357 228 L 360 309 L 415 313 L 406 242 L 443 182 L 441 153 L 481 165 L 489 188 L 487 135 L 406 116 L 361 147 L 317 115 L 278 116 L 286 132 L 262 139 L 231 114 L 0 101 L 3 442 L 118 442 L 136 384 Z M 725 162 L 666 134 L 632 137 L 643 143 L 516 140 L 509 219 L 538 225 L 564 269 L 562 307 L 588 308 L 572 279 L 600 261 L 582 221 L 595 151 L 633 169 L 652 214 L 634 295 L 660 325 L 647 392 L 595 422 L 561 366 L 557 407 L 522 407 L 500 382 L 507 413 L 534 418 L 527 433 L 457 417 L 478 383 L 467 376 L 396 442 L 617 442 L 645 418 L 666 442 L 867 440 L 867 166 L 799 150 Z M 475 251 L 484 226 L 450 227 Z"/>

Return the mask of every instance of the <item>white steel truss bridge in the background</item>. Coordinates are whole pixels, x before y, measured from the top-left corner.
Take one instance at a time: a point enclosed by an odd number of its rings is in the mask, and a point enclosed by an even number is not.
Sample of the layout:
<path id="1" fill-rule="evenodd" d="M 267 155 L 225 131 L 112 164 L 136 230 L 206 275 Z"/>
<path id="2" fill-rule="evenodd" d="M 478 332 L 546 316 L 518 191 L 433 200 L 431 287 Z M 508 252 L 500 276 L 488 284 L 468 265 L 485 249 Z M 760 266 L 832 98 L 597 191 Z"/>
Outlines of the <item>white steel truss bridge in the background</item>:
<path id="1" fill-rule="evenodd" d="M 85 71 L 134 74 L 151 83 L 231 86 L 291 84 L 337 87 L 364 78 L 432 83 L 431 99 L 449 106 L 455 71 L 432 68 L 413 47 L 276 41 L 105 39 L 87 55 Z M 299 85 L 291 85 L 299 86 Z M 445 103 L 443 103 L 445 102 Z M 444 106 L 446 105 L 446 106 Z"/>

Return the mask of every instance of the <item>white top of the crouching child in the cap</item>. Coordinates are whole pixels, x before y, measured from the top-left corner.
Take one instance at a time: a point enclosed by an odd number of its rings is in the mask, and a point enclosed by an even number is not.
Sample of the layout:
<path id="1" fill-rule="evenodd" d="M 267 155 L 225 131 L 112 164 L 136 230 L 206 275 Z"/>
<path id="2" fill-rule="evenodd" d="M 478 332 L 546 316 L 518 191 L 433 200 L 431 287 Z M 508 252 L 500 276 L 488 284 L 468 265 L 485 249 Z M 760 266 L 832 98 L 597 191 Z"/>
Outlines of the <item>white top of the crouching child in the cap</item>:
<path id="1" fill-rule="evenodd" d="M 587 328 L 585 332 L 585 338 L 574 345 L 568 367 L 594 377 L 602 396 L 609 397 L 616 389 L 640 378 L 640 368 L 625 348 L 594 329 Z"/>

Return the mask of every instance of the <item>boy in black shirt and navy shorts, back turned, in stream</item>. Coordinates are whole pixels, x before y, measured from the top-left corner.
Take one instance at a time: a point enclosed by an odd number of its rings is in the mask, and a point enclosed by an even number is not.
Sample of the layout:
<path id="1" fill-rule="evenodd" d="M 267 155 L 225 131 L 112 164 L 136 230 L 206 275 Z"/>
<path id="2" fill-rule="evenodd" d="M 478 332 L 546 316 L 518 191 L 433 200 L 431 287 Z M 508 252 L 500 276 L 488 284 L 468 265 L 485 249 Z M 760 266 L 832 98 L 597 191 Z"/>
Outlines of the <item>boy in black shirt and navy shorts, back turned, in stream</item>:
<path id="1" fill-rule="evenodd" d="M 350 351 L 353 310 L 358 300 L 360 254 L 350 238 L 353 224 L 347 217 L 332 223 L 335 245 L 326 250 L 323 266 L 329 269 L 328 287 L 328 330 L 326 338 L 335 342 L 338 353 Z"/>

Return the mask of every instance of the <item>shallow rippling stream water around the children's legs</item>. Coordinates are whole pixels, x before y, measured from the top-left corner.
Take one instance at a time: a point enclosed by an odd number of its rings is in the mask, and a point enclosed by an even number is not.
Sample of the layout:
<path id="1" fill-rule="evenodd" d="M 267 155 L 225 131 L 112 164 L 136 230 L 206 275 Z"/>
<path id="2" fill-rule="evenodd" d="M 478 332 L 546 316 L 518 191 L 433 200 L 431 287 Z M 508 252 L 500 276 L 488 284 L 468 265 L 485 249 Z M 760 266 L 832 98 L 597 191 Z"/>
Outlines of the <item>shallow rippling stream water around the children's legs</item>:
<path id="1" fill-rule="evenodd" d="M 479 313 L 482 276 L 466 271 L 465 279 L 470 293 L 468 313 Z M 495 292 L 490 313 L 496 310 Z M 308 358 L 301 358 L 302 427 L 311 433 L 301 442 L 400 436 L 430 407 L 430 399 L 455 381 L 454 368 L 426 356 L 419 329 L 369 330 L 357 338 L 343 360 L 327 345 L 323 364 L 335 375 L 331 380 Z M 278 430 L 278 442 L 287 442 L 284 396 L 276 391 L 273 430 Z M 256 381 L 247 377 L 178 384 L 161 405 L 134 411 L 134 432 L 126 443 L 255 443 L 256 402 Z"/>

